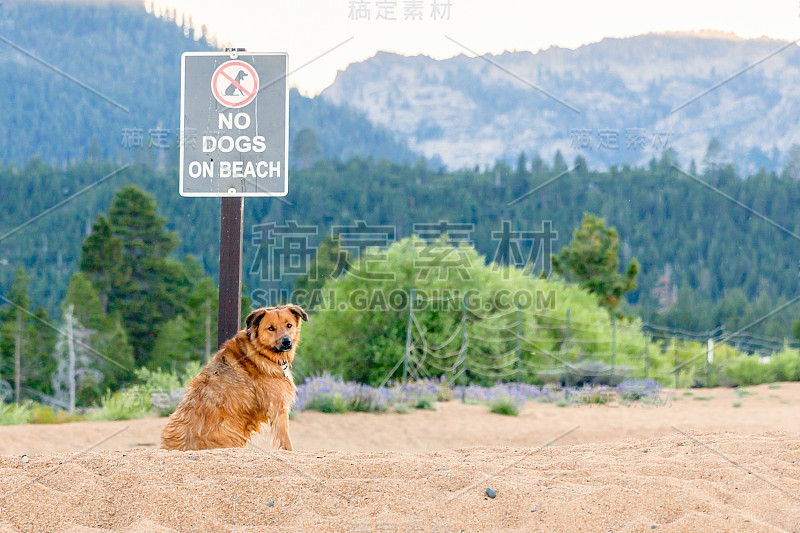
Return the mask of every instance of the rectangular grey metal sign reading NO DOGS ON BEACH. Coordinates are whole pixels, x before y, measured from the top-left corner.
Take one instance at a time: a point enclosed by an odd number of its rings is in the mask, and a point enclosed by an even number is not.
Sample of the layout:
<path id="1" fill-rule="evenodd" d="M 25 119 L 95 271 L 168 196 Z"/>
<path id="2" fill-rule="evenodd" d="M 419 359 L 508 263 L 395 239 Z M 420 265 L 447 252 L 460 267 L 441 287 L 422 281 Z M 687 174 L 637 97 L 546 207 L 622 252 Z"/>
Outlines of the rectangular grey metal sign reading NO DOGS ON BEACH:
<path id="1" fill-rule="evenodd" d="M 286 54 L 183 54 L 182 196 L 286 195 L 288 67 Z"/>

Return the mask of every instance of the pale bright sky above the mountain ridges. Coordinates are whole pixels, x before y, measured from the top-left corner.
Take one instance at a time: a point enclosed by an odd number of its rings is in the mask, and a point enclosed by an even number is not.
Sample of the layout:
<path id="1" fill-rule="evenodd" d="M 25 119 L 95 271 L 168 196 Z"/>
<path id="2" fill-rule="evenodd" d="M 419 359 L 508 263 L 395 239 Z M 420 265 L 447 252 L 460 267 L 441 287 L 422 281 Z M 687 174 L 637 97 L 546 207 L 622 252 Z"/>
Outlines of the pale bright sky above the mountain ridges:
<path id="1" fill-rule="evenodd" d="M 381 50 L 445 59 L 651 32 L 800 38 L 799 0 L 158 0 L 160 7 L 191 15 L 233 46 L 288 52 L 290 84 L 309 96 Z"/>

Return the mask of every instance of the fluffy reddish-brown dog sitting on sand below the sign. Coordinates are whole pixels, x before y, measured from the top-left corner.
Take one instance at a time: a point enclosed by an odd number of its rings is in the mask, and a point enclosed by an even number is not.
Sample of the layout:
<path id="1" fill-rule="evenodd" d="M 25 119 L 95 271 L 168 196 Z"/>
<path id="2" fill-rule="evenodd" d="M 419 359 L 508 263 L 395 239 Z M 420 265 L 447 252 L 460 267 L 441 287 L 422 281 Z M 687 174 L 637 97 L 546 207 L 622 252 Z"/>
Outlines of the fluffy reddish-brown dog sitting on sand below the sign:
<path id="1" fill-rule="evenodd" d="M 161 432 L 171 450 L 242 447 L 269 423 L 273 444 L 292 449 L 289 410 L 295 398 L 290 367 L 300 340 L 297 305 L 264 307 L 250 313 L 247 329 L 225 342 L 192 379 L 180 405 Z"/>

